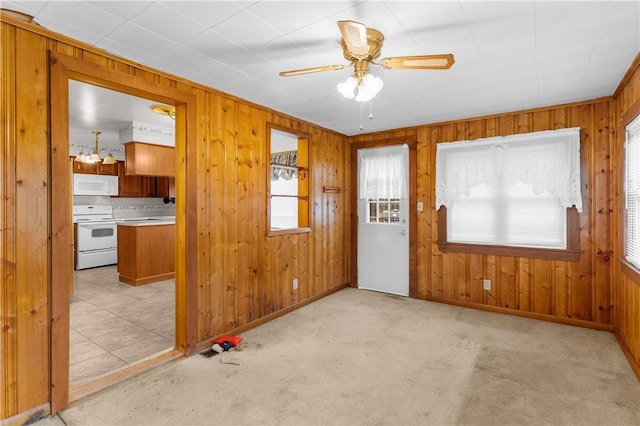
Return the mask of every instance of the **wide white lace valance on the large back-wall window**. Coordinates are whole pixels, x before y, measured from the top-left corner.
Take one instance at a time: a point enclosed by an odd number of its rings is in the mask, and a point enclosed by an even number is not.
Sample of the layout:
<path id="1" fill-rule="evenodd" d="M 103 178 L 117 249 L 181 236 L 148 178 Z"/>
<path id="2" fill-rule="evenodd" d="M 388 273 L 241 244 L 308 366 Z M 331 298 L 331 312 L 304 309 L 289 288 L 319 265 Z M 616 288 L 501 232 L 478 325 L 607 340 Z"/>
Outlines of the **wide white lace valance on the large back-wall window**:
<path id="1" fill-rule="evenodd" d="M 581 212 L 580 128 L 438 144 L 436 209 L 498 181 L 530 184 Z"/>

